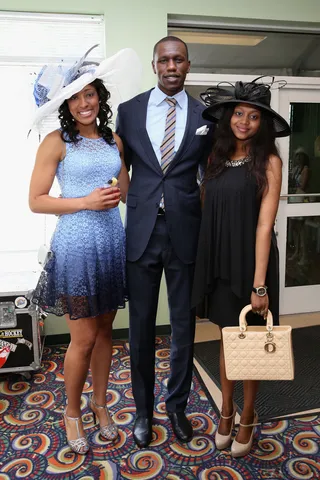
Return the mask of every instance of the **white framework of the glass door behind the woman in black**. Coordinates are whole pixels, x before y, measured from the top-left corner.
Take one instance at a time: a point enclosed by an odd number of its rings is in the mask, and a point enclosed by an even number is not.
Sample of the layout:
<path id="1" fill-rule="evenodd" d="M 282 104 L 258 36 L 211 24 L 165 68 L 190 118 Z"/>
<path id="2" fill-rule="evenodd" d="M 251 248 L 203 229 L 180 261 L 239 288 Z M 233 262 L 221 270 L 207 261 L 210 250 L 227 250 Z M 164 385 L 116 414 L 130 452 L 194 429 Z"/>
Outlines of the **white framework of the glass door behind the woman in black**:
<path id="1" fill-rule="evenodd" d="M 210 86 L 217 86 L 220 82 L 229 82 L 234 84 L 236 81 L 251 82 L 258 75 L 223 75 L 223 74 L 207 74 L 207 73 L 189 73 L 186 78 L 185 85 L 188 86 L 203 86 L 204 90 Z M 276 112 L 279 112 L 288 123 L 289 108 L 284 109 L 281 100 L 283 95 L 288 93 L 297 92 L 302 90 L 304 92 L 319 91 L 320 95 L 320 78 L 318 77 L 286 77 L 286 76 L 274 76 L 275 81 L 285 80 L 286 85 L 281 89 L 272 90 L 271 96 L 271 108 Z M 320 98 L 320 97 L 319 97 Z M 289 107 L 290 103 L 288 104 Z M 282 106 L 282 108 L 281 108 Z M 298 313 L 296 307 L 292 303 L 292 299 L 297 298 L 297 287 L 285 287 L 285 265 L 286 265 L 286 244 L 287 244 L 287 217 L 288 216 L 301 216 L 302 210 L 304 215 L 320 215 L 320 203 L 314 204 L 288 204 L 288 168 L 289 168 L 289 140 L 288 138 L 277 139 L 279 146 L 280 156 L 283 161 L 283 175 L 279 209 L 275 222 L 275 231 L 278 237 L 279 257 L 280 257 L 280 314 Z M 320 192 L 319 192 L 320 193 Z M 289 211 L 288 211 L 289 205 Z M 306 209 L 306 207 L 308 207 Z M 290 215 L 288 214 L 290 212 Z M 307 212 L 307 213 L 306 213 Z M 307 296 L 308 307 L 303 309 L 304 312 L 316 312 L 320 311 L 320 295 L 314 295 L 310 287 L 298 287 L 299 292 L 303 297 Z M 317 286 L 320 288 L 319 286 Z M 287 291 L 285 292 L 285 289 Z M 289 290 L 291 292 L 289 292 Z M 289 294 L 288 294 L 289 292 Z M 300 297 L 300 295 L 299 295 Z M 296 300 L 297 301 L 297 300 Z M 295 301 L 295 303 L 296 303 Z"/>

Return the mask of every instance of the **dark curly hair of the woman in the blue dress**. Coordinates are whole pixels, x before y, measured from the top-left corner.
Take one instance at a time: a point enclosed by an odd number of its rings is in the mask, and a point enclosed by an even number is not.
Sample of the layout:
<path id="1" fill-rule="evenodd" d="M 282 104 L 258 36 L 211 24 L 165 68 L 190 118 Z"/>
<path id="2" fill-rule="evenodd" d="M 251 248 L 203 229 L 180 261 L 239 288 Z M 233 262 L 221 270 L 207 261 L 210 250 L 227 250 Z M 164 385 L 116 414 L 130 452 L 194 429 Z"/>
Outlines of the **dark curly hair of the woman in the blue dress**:
<path id="1" fill-rule="evenodd" d="M 112 117 L 112 111 L 109 107 L 108 100 L 110 92 L 104 86 L 102 80 L 97 78 L 90 85 L 92 85 L 98 94 L 100 109 L 98 113 L 98 133 L 109 144 L 114 144 L 112 130 L 108 126 Z M 76 128 L 73 116 L 70 113 L 67 100 L 59 107 L 59 120 L 61 125 L 61 137 L 63 141 L 70 143 L 77 143 L 81 140 L 79 137 L 79 130 Z"/>

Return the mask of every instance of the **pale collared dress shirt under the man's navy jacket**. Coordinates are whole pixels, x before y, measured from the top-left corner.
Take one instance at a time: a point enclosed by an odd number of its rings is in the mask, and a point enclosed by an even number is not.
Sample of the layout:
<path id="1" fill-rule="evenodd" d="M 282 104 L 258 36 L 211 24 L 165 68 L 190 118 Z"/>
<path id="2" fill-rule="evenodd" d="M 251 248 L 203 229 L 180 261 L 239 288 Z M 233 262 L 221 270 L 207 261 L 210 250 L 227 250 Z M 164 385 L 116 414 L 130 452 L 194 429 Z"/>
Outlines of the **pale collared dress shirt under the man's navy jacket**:
<path id="1" fill-rule="evenodd" d="M 147 108 L 147 122 L 146 128 L 159 163 L 161 163 L 160 146 L 164 137 L 164 130 L 166 126 L 166 118 L 169 110 L 169 105 L 165 101 L 168 97 L 163 93 L 158 86 L 151 91 L 148 108 Z M 188 96 L 185 90 L 173 95 L 177 100 L 176 105 L 176 131 L 175 131 L 175 153 L 178 151 L 187 124 L 188 115 Z"/>

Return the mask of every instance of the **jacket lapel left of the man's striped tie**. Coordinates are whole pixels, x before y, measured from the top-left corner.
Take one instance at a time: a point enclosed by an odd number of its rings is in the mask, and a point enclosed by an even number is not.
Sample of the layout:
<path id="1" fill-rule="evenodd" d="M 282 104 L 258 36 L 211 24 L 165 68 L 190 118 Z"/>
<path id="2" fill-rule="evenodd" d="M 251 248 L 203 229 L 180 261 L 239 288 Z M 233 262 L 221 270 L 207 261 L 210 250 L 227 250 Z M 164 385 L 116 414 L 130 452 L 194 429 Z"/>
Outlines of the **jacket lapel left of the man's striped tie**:
<path id="1" fill-rule="evenodd" d="M 151 90 L 146 92 L 143 96 L 137 99 L 137 130 L 138 130 L 138 137 L 141 141 L 141 144 L 146 152 L 146 158 L 150 161 L 151 166 L 156 170 L 158 173 L 163 175 L 161 166 L 157 159 L 156 154 L 154 153 L 152 143 L 150 141 L 147 128 L 146 128 L 146 121 L 147 121 L 147 108 L 148 108 L 148 101 L 150 97 Z"/>

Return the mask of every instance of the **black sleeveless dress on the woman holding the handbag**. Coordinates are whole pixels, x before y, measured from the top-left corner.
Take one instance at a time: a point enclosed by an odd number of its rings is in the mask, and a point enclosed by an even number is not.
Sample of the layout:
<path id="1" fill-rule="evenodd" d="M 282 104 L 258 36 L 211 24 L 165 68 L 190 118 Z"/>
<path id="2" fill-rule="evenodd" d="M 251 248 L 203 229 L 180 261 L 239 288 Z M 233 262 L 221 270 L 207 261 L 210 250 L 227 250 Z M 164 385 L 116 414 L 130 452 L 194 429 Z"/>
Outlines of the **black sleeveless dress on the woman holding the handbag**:
<path id="1" fill-rule="evenodd" d="M 221 327 L 238 325 L 241 309 L 250 303 L 261 203 L 248 163 L 232 165 L 206 183 L 192 293 L 192 305 Z M 274 232 L 266 285 L 269 309 L 278 325 L 279 254 Z M 247 321 L 265 325 L 251 312 Z"/>

